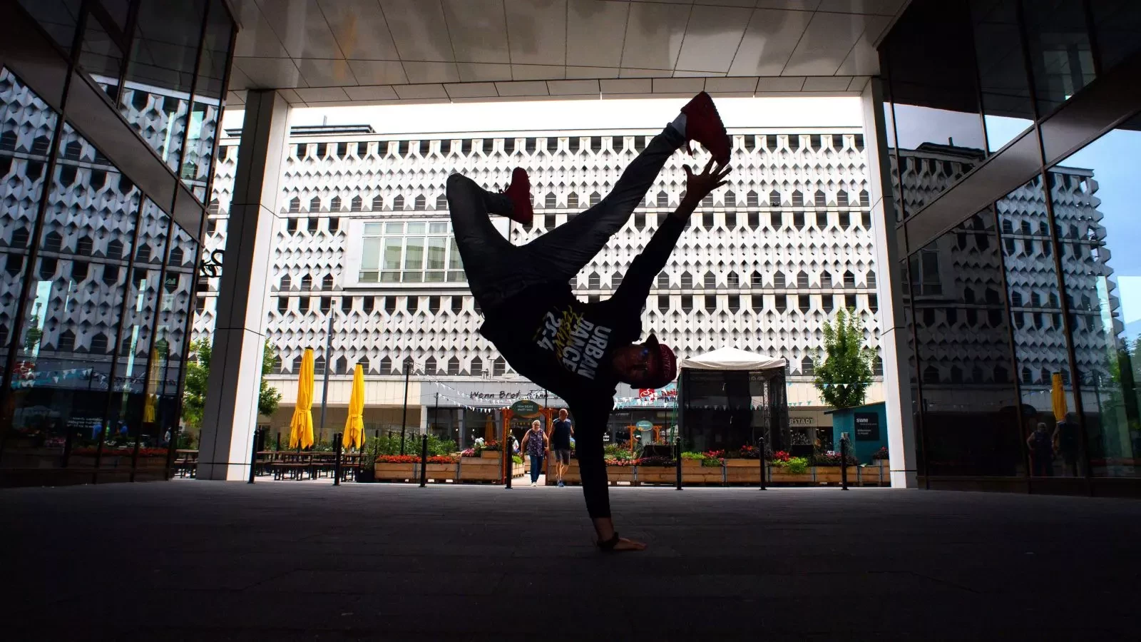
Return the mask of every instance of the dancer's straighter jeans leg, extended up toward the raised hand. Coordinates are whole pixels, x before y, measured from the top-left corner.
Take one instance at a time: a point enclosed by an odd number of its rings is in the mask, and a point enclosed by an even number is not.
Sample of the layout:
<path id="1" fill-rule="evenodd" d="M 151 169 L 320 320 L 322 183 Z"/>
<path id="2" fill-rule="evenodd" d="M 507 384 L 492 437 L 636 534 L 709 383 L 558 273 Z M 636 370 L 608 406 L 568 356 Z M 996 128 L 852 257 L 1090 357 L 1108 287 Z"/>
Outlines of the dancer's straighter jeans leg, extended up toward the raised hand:
<path id="1" fill-rule="evenodd" d="M 666 126 L 626 166 L 614 190 L 605 199 L 525 246 L 531 260 L 542 265 L 551 281 L 567 281 L 577 274 L 606 246 L 610 236 L 625 225 L 634 208 L 654 185 L 665 161 L 685 142 L 685 135 L 674 126 Z"/>

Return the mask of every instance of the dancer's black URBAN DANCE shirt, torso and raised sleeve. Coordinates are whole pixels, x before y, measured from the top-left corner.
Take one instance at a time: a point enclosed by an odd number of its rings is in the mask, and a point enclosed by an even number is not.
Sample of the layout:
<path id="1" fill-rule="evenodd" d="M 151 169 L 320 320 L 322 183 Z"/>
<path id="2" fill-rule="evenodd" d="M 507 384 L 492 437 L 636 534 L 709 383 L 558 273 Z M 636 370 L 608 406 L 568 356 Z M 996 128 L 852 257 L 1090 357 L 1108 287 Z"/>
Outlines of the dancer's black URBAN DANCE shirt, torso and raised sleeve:
<path id="1" fill-rule="evenodd" d="M 617 385 L 610 358 L 641 337 L 649 288 L 685 227 L 685 220 L 666 217 L 613 297 L 583 303 L 566 282 L 532 286 L 485 311 L 479 332 L 517 372 L 572 407 L 605 404 L 609 411 Z"/>

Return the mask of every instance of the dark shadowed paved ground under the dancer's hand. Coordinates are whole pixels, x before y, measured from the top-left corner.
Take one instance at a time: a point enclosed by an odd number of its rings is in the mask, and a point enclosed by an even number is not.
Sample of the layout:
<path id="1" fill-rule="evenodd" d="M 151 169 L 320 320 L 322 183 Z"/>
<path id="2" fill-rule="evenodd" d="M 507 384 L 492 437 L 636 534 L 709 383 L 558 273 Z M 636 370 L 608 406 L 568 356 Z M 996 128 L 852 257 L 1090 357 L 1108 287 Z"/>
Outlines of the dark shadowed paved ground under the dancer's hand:
<path id="1" fill-rule="evenodd" d="M 1136 640 L 1141 503 L 175 481 L 0 491 L 7 640 Z"/>

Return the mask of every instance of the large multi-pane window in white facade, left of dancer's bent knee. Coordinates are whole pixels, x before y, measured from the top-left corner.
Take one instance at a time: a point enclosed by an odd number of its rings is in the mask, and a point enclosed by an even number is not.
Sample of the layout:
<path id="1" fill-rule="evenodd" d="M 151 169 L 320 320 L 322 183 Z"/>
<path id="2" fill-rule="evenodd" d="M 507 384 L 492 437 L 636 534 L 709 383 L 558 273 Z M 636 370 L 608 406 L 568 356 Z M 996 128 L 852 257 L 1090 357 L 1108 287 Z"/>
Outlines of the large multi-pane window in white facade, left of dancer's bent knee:
<path id="1" fill-rule="evenodd" d="M 447 220 L 365 223 L 362 283 L 463 282 L 460 250 Z"/>

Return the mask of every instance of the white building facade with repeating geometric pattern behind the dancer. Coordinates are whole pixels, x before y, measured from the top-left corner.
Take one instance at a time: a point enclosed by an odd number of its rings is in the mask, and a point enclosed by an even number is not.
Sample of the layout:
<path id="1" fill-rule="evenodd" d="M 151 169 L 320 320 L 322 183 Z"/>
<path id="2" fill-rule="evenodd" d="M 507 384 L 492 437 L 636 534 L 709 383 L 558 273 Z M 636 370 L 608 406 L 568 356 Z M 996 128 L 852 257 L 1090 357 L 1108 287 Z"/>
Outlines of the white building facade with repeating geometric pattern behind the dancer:
<path id="1" fill-rule="evenodd" d="M 319 372 L 330 324 L 323 308 L 337 311 L 333 376 L 347 377 L 358 361 L 373 378 L 391 376 L 407 358 L 416 371 L 442 378 L 510 375 L 494 346 L 477 332 L 482 320 L 451 254 L 445 259 L 445 249 L 438 249 L 440 270 L 412 275 L 436 282 L 367 282 L 378 278 L 362 274 L 359 231 L 371 222 L 428 223 L 428 243 L 434 243 L 435 227 L 450 246 L 447 228 L 439 226 L 447 223 L 448 174 L 459 171 L 497 190 L 510 169 L 521 166 L 531 175 L 535 220 L 528 228 L 512 225 L 509 234 L 524 243 L 597 202 L 654 134 L 466 133 L 394 139 L 342 130 L 292 136 L 267 306 L 283 378 L 296 379 L 290 375 L 305 347 L 315 348 Z M 782 356 L 792 379 L 800 382 L 794 385 L 810 388 L 801 375 L 810 374 L 823 323 L 836 308 L 855 307 L 867 343 L 877 348 L 863 135 L 851 128 L 731 134 L 730 184 L 695 212 L 650 292 L 644 324 L 682 358 L 727 345 Z M 236 144 L 224 138 L 219 150 L 207 252 L 225 244 Z M 677 207 L 686 162 L 694 161 L 682 153 L 670 159 L 630 222 L 578 274 L 577 296 L 605 298 L 614 291 L 657 220 Z M 501 223 L 505 230 L 505 219 Z M 408 259 L 407 250 L 403 256 Z M 402 281 L 410 276 L 407 271 L 395 274 Z M 378 281 L 385 278 L 381 271 Z M 217 281 L 200 284 L 195 337 L 213 326 Z"/>

